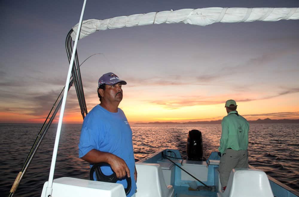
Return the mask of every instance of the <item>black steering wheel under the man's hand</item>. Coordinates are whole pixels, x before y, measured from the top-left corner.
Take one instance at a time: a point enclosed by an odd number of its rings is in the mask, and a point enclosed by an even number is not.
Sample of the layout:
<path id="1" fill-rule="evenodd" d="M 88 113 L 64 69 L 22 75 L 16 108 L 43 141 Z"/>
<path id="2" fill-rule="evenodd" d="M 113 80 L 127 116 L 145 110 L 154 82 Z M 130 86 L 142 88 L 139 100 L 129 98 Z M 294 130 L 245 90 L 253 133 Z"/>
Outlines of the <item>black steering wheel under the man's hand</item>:
<path id="1" fill-rule="evenodd" d="M 119 180 L 116 177 L 116 174 L 113 170 L 112 170 L 113 173 L 111 175 L 104 175 L 100 168 L 101 166 L 109 166 L 110 167 L 110 165 L 107 163 L 94 164 L 91 167 L 90 173 L 89 173 L 89 178 L 91 181 L 103 181 L 103 182 L 109 182 L 109 183 L 116 183 L 116 181 Z M 95 176 L 96 176 L 97 180 L 94 180 L 94 178 L 93 178 L 94 172 L 95 172 Z M 128 195 L 129 192 L 131 191 L 132 183 L 131 183 L 131 178 L 129 178 L 127 175 L 126 175 L 125 179 L 127 181 L 127 188 L 125 188 L 125 192 L 126 192 L 126 195 Z"/>

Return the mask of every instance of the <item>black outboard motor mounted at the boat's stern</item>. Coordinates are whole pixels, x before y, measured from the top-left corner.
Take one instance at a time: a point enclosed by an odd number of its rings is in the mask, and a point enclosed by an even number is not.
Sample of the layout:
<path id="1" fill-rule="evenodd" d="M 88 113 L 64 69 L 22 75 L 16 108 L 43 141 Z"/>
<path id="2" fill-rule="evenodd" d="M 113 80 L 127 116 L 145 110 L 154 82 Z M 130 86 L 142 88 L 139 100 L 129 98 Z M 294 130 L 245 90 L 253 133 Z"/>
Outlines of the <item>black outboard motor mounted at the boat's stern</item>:
<path id="1" fill-rule="evenodd" d="M 203 145 L 202 132 L 193 129 L 188 133 L 187 139 L 187 156 L 188 160 L 202 161 Z"/>

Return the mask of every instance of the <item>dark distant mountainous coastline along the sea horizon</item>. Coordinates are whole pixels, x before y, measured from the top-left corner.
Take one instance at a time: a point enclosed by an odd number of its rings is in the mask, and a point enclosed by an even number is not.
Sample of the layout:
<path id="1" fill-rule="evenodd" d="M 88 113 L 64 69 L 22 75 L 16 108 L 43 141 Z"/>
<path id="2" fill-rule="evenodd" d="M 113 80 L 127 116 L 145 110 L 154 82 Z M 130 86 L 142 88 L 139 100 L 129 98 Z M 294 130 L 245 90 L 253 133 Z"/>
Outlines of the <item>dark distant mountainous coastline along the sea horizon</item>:
<path id="1" fill-rule="evenodd" d="M 299 123 L 299 119 L 277 119 L 272 120 L 270 118 L 248 120 L 249 123 Z M 149 122 L 149 123 L 135 123 L 135 124 L 220 124 L 221 120 L 211 120 L 211 121 L 189 121 L 184 123 L 177 122 Z M 134 124 L 134 125 L 135 125 Z"/>

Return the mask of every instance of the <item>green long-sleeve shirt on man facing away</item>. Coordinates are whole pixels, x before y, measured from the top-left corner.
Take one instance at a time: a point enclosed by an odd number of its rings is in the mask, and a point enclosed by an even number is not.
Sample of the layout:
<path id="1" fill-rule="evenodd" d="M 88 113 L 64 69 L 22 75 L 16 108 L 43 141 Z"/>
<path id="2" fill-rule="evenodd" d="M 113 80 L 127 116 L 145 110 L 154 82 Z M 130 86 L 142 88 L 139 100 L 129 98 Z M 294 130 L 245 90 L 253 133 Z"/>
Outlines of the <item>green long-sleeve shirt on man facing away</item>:
<path id="1" fill-rule="evenodd" d="M 228 148 L 247 150 L 249 123 L 244 117 L 240 116 L 237 111 L 229 112 L 223 117 L 221 126 L 219 152 L 224 153 Z"/>

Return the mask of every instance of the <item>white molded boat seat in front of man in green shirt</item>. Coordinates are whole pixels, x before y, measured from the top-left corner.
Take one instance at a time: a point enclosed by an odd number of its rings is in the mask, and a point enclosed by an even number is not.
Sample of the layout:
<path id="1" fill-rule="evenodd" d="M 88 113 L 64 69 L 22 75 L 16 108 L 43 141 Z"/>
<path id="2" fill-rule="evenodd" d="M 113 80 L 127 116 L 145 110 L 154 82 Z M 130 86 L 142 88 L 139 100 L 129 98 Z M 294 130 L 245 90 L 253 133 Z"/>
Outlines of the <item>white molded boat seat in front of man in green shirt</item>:
<path id="1" fill-rule="evenodd" d="M 232 169 L 224 192 L 220 191 L 217 196 L 221 197 L 274 197 L 268 176 L 259 169 Z"/>

